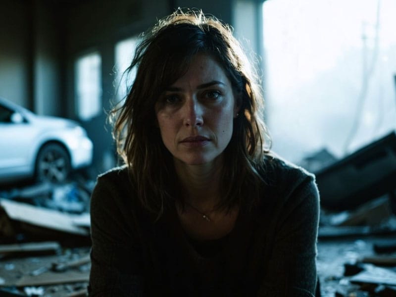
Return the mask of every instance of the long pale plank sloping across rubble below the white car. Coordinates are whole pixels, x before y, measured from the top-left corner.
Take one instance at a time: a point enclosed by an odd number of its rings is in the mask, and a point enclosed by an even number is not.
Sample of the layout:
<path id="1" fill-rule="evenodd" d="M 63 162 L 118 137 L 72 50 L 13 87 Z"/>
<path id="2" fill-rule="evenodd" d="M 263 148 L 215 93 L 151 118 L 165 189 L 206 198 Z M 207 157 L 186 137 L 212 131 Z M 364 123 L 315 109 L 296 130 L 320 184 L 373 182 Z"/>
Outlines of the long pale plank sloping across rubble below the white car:
<path id="1" fill-rule="evenodd" d="M 12 220 L 56 231 L 89 236 L 89 230 L 74 224 L 74 220 L 86 217 L 86 214 L 68 214 L 6 199 L 0 199 L 0 205 Z"/>

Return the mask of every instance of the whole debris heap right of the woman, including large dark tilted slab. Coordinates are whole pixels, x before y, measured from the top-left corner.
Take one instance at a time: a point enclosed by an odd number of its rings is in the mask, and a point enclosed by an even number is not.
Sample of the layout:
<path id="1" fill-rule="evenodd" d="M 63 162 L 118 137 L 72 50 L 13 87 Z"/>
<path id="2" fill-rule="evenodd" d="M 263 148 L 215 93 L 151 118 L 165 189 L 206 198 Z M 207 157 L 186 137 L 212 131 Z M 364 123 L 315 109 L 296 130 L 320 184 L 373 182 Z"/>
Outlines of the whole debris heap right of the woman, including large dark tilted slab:
<path id="1" fill-rule="evenodd" d="M 321 196 L 318 270 L 324 296 L 396 297 L 395 132 L 315 175 Z M 329 264 L 331 257 L 344 261 L 344 271 Z"/>

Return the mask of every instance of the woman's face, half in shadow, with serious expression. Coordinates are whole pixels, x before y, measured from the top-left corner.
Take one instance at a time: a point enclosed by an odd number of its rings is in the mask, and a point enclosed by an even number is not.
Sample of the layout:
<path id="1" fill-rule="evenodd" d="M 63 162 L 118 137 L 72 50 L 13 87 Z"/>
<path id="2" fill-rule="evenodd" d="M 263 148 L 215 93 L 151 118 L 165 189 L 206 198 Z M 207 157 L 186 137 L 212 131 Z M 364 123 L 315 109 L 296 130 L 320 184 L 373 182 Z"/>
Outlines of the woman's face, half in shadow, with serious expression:
<path id="1" fill-rule="evenodd" d="M 206 54 L 197 54 L 155 103 L 165 147 L 188 165 L 211 163 L 222 154 L 238 109 L 223 68 Z"/>

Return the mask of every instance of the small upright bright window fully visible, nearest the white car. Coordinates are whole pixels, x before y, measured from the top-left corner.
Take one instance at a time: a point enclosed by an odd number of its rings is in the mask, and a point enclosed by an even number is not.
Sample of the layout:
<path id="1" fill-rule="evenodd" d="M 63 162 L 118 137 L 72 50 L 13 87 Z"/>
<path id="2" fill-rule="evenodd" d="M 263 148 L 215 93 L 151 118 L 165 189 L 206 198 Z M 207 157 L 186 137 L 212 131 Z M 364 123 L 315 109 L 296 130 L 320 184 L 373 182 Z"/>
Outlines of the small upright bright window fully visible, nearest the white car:
<path id="1" fill-rule="evenodd" d="M 101 58 L 94 52 L 76 62 L 77 114 L 80 119 L 90 120 L 100 113 L 101 95 Z"/>

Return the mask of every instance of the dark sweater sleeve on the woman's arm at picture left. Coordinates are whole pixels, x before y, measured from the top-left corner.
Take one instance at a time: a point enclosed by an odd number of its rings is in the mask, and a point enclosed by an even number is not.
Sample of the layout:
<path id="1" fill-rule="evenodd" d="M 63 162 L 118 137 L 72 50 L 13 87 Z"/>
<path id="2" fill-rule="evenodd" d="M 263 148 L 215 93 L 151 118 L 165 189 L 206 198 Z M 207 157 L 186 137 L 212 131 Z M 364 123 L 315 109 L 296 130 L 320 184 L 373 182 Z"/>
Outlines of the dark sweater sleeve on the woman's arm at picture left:
<path id="1" fill-rule="evenodd" d="M 109 174 L 107 174 L 109 175 Z M 110 175 L 116 175 L 110 172 Z M 98 178 L 91 197 L 91 273 L 89 296 L 142 296 L 141 248 L 120 179 Z"/>

